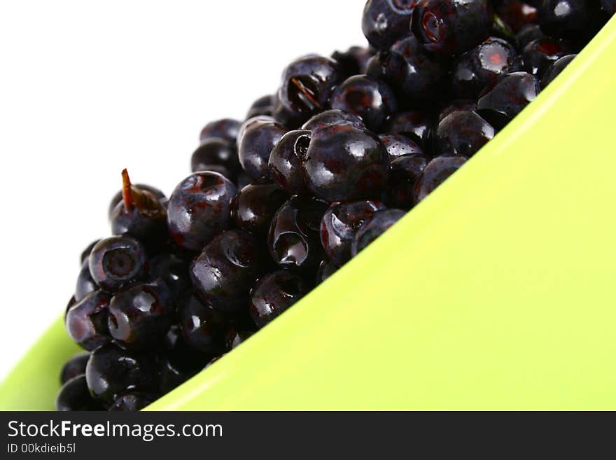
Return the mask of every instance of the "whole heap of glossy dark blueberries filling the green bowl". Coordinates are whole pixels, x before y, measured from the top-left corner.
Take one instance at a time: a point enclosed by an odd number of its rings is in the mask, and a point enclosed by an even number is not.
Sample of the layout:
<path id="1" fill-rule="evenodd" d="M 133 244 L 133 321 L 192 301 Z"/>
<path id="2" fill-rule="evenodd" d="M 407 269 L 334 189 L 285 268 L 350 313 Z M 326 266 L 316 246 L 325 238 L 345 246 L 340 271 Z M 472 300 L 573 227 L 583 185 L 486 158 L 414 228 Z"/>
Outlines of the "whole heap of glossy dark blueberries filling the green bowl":
<path id="1" fill-rule="evenodd" d="M 209 123 L 167 199 L 109 208 L 66 309 L 86 352 L 58 410 L 139 410 L 246 340 L 398 221 L 573 60 L 616 0 L 368 0 L 370 43 L 291 62 Z"/>

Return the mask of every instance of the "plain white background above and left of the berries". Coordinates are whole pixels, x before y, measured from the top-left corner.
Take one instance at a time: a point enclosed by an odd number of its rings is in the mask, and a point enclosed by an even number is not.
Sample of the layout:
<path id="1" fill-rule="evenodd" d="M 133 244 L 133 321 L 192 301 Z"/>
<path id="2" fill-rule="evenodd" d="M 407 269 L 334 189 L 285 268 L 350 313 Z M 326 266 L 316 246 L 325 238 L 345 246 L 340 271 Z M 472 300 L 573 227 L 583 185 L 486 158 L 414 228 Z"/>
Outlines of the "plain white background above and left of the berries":
<path id="1" fill-rule="evenodd" d="M 0 379 L 64 311 L 127 167 L 169 194 L 202 125 L 299 55 L 365 43 L 363 0 L 0 4 Z"/>

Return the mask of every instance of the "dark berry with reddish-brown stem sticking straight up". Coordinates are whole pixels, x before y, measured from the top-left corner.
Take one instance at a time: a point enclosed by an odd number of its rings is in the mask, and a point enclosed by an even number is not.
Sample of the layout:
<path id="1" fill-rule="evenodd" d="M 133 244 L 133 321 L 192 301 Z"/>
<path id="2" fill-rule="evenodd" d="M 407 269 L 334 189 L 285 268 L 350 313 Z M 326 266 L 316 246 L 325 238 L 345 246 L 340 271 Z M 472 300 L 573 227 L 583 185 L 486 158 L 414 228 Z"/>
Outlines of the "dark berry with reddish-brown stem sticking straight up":
<path id="1" fill-rule="evenodd" d="M 151 249 L 167 238 L 167 209 L 156 195 L 132 185 L 126 169 L 122 179 L 123 200 L 111 213 L 111 232 L 135 237 Z"/>

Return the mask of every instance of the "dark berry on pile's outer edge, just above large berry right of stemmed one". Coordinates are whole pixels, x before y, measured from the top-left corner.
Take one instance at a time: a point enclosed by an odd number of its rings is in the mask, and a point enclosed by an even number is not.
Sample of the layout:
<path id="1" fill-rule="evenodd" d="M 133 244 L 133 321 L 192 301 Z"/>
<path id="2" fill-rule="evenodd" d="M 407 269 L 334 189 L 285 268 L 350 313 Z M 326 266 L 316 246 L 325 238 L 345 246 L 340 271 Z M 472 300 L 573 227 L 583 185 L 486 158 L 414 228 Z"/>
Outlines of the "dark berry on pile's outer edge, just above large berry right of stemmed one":
<path id="1" fill-rule="evenodd" d="M 209 137 L 193 152 L 190 169 L 197 171 L 215 171 L 234 181 L 241 170 L 237 158 L 235 139 L 229 141 L 221 137 Z"/>

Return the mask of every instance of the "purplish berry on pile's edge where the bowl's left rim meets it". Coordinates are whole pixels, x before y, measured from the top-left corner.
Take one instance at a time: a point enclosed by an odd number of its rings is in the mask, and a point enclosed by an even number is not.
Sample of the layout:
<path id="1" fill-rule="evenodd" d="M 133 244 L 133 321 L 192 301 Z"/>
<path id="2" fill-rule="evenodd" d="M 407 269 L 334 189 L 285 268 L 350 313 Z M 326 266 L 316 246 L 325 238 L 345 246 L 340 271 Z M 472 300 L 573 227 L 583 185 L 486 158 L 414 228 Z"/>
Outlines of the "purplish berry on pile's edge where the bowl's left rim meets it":
<path id="1" fill-rule="evenodd" d="M 69 308 L 64 325 L 73 342 L 91 351 L 111 340 L 107 326 L 110 301 L 108 293 L 94 291 Z"/>

